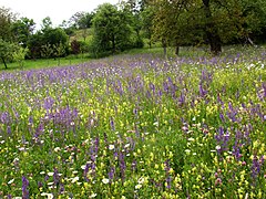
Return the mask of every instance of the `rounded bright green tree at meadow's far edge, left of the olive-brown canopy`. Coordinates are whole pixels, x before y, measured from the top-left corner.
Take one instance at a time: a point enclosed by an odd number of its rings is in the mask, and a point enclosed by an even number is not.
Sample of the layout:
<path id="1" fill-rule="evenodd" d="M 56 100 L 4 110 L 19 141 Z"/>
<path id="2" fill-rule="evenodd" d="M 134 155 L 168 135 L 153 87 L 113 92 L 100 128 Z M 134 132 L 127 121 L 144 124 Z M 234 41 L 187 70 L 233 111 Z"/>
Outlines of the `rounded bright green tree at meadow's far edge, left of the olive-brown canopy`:
<path id="1" fill-rule="evenodd" d="M 93 18 L 93 51 L 115 53 L 130 46 L 131 28 L 127 15 L 110 3 L 101 4 Z"/>

